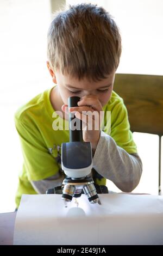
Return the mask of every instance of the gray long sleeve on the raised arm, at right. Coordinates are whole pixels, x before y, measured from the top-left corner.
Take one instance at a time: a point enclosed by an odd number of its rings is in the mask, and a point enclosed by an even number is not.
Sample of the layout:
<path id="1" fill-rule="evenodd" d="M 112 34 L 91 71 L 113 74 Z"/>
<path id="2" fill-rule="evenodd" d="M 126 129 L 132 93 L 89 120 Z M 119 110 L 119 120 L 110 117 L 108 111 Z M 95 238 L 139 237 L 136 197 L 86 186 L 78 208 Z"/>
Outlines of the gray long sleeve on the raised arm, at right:
<path id="1" fill-rule="evenodd" d="M 139 155 L 128 154 L 103 131 L 101 131 L 93 156 L 93 168 L 104 178 L 114 182 L 123 192 L 134 190 L 142 174 L 142 162 Z"/>

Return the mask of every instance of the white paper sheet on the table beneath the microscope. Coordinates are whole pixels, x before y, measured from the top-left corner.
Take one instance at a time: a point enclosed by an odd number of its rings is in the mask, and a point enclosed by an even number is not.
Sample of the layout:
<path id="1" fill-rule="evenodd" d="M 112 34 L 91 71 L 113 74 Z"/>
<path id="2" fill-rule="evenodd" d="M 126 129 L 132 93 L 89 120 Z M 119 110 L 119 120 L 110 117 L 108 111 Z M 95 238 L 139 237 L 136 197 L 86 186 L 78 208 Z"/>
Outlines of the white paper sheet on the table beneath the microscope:
<path id="1" fill-rule="evenodd" d="M 60 194 L 23 195 L 14 245 L 163 245 L 163 197 L 99 194 L 65 208 Z"/>

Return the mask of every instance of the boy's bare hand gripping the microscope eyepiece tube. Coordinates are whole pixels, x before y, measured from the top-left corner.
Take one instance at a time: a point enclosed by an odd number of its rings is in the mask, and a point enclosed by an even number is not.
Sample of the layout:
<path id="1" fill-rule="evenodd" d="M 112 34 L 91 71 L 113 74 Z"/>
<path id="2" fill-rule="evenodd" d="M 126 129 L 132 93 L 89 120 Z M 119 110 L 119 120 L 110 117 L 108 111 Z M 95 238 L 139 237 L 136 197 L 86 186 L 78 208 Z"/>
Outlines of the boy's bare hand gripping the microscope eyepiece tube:
<path id="1" fill-rule="evenodd" d="M 67 113 L 68 106 L 62 105 L 62 110 Z M 91 142 L 92 150 L 95 152 L 103 118 L 103 109 L 98 97 L 95 95 L 83 96 L 78 102 L 78 107 L 69 108 L 69 112 L 75 113 L 75 116 L 82 120 L 83 140 Z"/>

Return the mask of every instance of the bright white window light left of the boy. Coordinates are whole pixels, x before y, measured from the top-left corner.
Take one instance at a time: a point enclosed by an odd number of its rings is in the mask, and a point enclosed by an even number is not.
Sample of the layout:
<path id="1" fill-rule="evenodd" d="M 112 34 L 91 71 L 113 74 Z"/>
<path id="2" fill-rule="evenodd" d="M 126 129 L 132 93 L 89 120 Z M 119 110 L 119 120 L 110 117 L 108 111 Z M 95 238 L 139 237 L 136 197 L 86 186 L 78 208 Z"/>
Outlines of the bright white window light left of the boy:
<path id="1" fill-rule="evenodd" d="M 18 172 L 22 169 L 14 113 L 53 86 L 46 66 L 50 21 L 47 0 L 0 1 L 0 212 L 15 210 Z"/>

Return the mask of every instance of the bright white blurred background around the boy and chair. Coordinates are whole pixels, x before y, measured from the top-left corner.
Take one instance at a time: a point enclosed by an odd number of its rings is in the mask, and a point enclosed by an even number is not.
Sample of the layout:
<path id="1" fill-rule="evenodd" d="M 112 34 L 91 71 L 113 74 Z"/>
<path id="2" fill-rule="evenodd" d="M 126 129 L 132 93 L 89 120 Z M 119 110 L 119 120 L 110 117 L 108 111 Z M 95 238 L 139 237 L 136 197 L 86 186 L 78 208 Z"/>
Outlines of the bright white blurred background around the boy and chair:
<path id="1" fill-rule="evenodd" d="M 120 28 L 123 49 L 117 73 L 163 75 L 162 0 L 0 0 L 0 212 L 15 210 L 23 162 L 14 113 L 53 87 L 46 66 L 46 37 L 53 12 L 65 4 L 82 2 L 104 7 Z M 158 194 L 159 138 L 134 133 L 134 140 L 143 174 L 133 192 Z M 109 190 L 119 191 L 111 181 L 107 185 Z"/>

